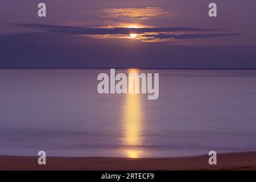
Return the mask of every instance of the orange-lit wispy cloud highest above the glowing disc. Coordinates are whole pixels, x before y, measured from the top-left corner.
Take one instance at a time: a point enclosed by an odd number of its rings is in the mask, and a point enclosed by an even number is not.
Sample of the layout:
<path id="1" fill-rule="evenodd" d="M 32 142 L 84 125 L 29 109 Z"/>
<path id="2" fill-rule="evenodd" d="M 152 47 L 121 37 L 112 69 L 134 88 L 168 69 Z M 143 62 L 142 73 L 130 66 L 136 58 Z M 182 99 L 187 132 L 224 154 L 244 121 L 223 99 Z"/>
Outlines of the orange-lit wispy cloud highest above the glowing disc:
<path id="1" fill-rule="evenodd" d="M 118 8 L 118 9 L 104 9 L 105 14 L 109 17 L 117 18 L 120 16 L 127 17 L 148 17 L 160 15 L 175 15 L 170 11 L 164 11 L 161 7 L 146 7 L 146 8 Z"/>

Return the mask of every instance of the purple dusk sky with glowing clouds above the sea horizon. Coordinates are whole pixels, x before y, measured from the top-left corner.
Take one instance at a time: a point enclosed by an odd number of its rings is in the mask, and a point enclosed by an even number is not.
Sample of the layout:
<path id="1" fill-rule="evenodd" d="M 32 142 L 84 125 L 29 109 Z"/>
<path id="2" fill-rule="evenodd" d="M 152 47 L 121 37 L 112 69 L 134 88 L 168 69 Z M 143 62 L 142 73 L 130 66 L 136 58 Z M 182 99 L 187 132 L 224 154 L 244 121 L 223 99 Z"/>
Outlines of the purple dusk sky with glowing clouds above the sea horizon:
<path id="1" fill-rule="evenodd" d="M 255 0 L 0 3 L 1 68 L 256 68 Z"/>

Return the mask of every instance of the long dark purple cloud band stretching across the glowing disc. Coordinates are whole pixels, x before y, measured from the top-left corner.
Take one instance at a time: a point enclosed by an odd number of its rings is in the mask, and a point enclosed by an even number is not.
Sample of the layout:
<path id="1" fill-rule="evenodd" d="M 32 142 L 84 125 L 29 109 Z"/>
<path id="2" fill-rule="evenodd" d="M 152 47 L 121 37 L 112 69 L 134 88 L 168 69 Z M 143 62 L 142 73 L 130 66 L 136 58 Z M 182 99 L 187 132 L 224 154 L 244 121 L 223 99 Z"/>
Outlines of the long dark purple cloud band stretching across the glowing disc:
<path id="1" fill-rule="evenodd" d="M 51 24 L 14 24 L 14 26 L 31 28 L 34 31 L 43 31 L 52 35 L 75 36 L 87 35 L 93 38 L 130 38 L 130 34 L 138 34 L 141 41 L 173 40 L 173 39 L 207 39 L 219 36 L 237 36 L 221 32 L 219 28 L 196 28 L 196 27 L 143 27 L 143 28 L 89 28 L 76 26 L 58 26 Z M 211 32 L 211 33 L 209 33 Z"/>

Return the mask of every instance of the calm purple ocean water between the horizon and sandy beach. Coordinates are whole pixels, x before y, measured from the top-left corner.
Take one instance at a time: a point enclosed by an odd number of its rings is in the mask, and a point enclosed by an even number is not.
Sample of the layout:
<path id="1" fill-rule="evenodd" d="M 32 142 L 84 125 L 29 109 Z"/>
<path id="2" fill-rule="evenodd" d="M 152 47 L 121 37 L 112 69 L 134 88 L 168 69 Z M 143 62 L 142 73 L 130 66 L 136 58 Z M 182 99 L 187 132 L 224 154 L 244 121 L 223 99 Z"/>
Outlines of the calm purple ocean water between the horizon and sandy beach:
<path id="1" fill-rule="evenodd" d="M 137 71 L 159 73 L 158 100 L 98 94 L 97 75 L 109 69 L 0 69 L 0 155 L 256 151 L 256 71 Z"/>

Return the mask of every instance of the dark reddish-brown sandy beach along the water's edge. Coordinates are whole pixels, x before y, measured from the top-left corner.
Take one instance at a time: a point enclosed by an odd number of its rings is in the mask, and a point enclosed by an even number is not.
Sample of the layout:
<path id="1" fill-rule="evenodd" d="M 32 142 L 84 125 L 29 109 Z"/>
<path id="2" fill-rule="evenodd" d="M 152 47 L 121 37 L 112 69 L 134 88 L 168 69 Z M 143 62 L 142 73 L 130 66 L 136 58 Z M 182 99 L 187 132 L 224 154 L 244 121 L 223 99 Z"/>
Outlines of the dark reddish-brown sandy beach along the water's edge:
<path id="1" fill-rule="evenodd" d="M 39 166 L 36 157 L 0 156 L 0 170 L 256 170 L 256 152 L 218 154 L 217 165 L 209 156 L 187 158 L 56 158 Z"/>

